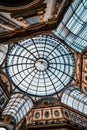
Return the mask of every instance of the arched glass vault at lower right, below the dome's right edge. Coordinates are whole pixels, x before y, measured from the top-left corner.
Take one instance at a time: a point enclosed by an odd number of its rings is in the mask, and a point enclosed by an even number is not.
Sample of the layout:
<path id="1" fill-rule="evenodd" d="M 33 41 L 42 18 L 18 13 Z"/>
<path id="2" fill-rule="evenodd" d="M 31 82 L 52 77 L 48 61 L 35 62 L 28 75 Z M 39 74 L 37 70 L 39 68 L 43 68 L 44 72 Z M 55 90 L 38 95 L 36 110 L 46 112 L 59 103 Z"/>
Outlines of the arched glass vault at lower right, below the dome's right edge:
<path id="1" fill-rule="evenodd" d="M 87 114 L 87 96 L 77 86 L 69 86 L 63 93 L 61 102 Z"/>

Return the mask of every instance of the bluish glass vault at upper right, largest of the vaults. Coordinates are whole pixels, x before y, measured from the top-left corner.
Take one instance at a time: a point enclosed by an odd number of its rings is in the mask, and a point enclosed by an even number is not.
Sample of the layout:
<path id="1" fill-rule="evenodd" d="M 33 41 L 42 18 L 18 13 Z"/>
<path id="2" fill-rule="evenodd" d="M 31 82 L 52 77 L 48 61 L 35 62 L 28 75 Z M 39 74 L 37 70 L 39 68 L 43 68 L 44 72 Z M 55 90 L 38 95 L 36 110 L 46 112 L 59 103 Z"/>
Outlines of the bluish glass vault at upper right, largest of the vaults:
<path id="1" fill-rule="evenodd" d="M 53 33 L 81 52 L 87 46 L 87 0 L 74 0 Z"/>

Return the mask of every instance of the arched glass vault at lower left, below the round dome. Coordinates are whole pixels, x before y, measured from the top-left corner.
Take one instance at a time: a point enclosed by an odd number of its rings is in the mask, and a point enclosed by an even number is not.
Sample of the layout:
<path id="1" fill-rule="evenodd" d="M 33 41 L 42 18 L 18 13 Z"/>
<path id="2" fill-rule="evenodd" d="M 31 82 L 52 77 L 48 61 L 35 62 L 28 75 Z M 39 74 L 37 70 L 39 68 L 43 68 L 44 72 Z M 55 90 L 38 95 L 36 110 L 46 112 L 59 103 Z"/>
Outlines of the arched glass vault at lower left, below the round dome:
<path id="1" fill-rule="evenodd" d="M 21 93 L 15 93 L 11 96 L 2 115 L 11 115 L 16 124 L 23 118 L 23 116 L 32 108 L 32 100 Z"/>

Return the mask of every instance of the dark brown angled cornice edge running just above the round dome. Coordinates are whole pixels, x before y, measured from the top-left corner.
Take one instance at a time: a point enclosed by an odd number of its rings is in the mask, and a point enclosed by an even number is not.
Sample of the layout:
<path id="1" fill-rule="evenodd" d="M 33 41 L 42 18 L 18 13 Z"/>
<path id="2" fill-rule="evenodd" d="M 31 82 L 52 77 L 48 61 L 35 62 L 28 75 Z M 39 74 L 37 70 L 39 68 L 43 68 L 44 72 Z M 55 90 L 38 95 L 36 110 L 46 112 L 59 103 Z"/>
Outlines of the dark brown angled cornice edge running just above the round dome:
<path id="1" fill-rule="evenodd" d="M 42 0 L 43 1 L 43 0 Z M 40 1 L 38 1 L 41 4 Z M 33 24 L 31 26 L 27 26 L 27 28 L 21 28 L 13 31 L 12 33 L 7 33 L 5 35 L 0 36 L 0 43 L 12 43 L 17 42 L 19 40 L 24 40 L 26 38 L 34 37 L 40 34 L 48 34 L 51 33 L 52 30 L 56 29 L 59 23 L 61 22 L 66 10 L 71 4 L 72 0 L 63 0 L 61 4 L 61 10 L 59 11 L 56 18 L 49 19 L 48 21 L 40 22 Z M 34 7 L 35 8 L 35 7 Z M 25 8 L 23 8 L 25 9 Z M 24 11 L 24 10 L 23 10 Z M 21 12 L 22 14 L 22 12 Z M 25 16 L 24 16 L 25 17 Z"/>

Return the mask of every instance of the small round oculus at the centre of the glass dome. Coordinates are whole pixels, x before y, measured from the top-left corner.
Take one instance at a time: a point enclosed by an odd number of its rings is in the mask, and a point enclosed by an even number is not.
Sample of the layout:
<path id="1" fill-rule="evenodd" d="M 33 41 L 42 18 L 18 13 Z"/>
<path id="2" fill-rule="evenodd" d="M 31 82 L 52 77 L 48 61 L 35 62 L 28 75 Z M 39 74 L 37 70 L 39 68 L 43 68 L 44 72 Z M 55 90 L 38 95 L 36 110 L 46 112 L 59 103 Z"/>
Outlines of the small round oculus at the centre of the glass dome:
<path id="1" fill-rule="evenodd" d="M 37 70 L 39 71 L 45 71 L 48 67 L 48 63 L 45 59 L 38 59 L 36 62 L 35 62 L 35 67 Z"/>

